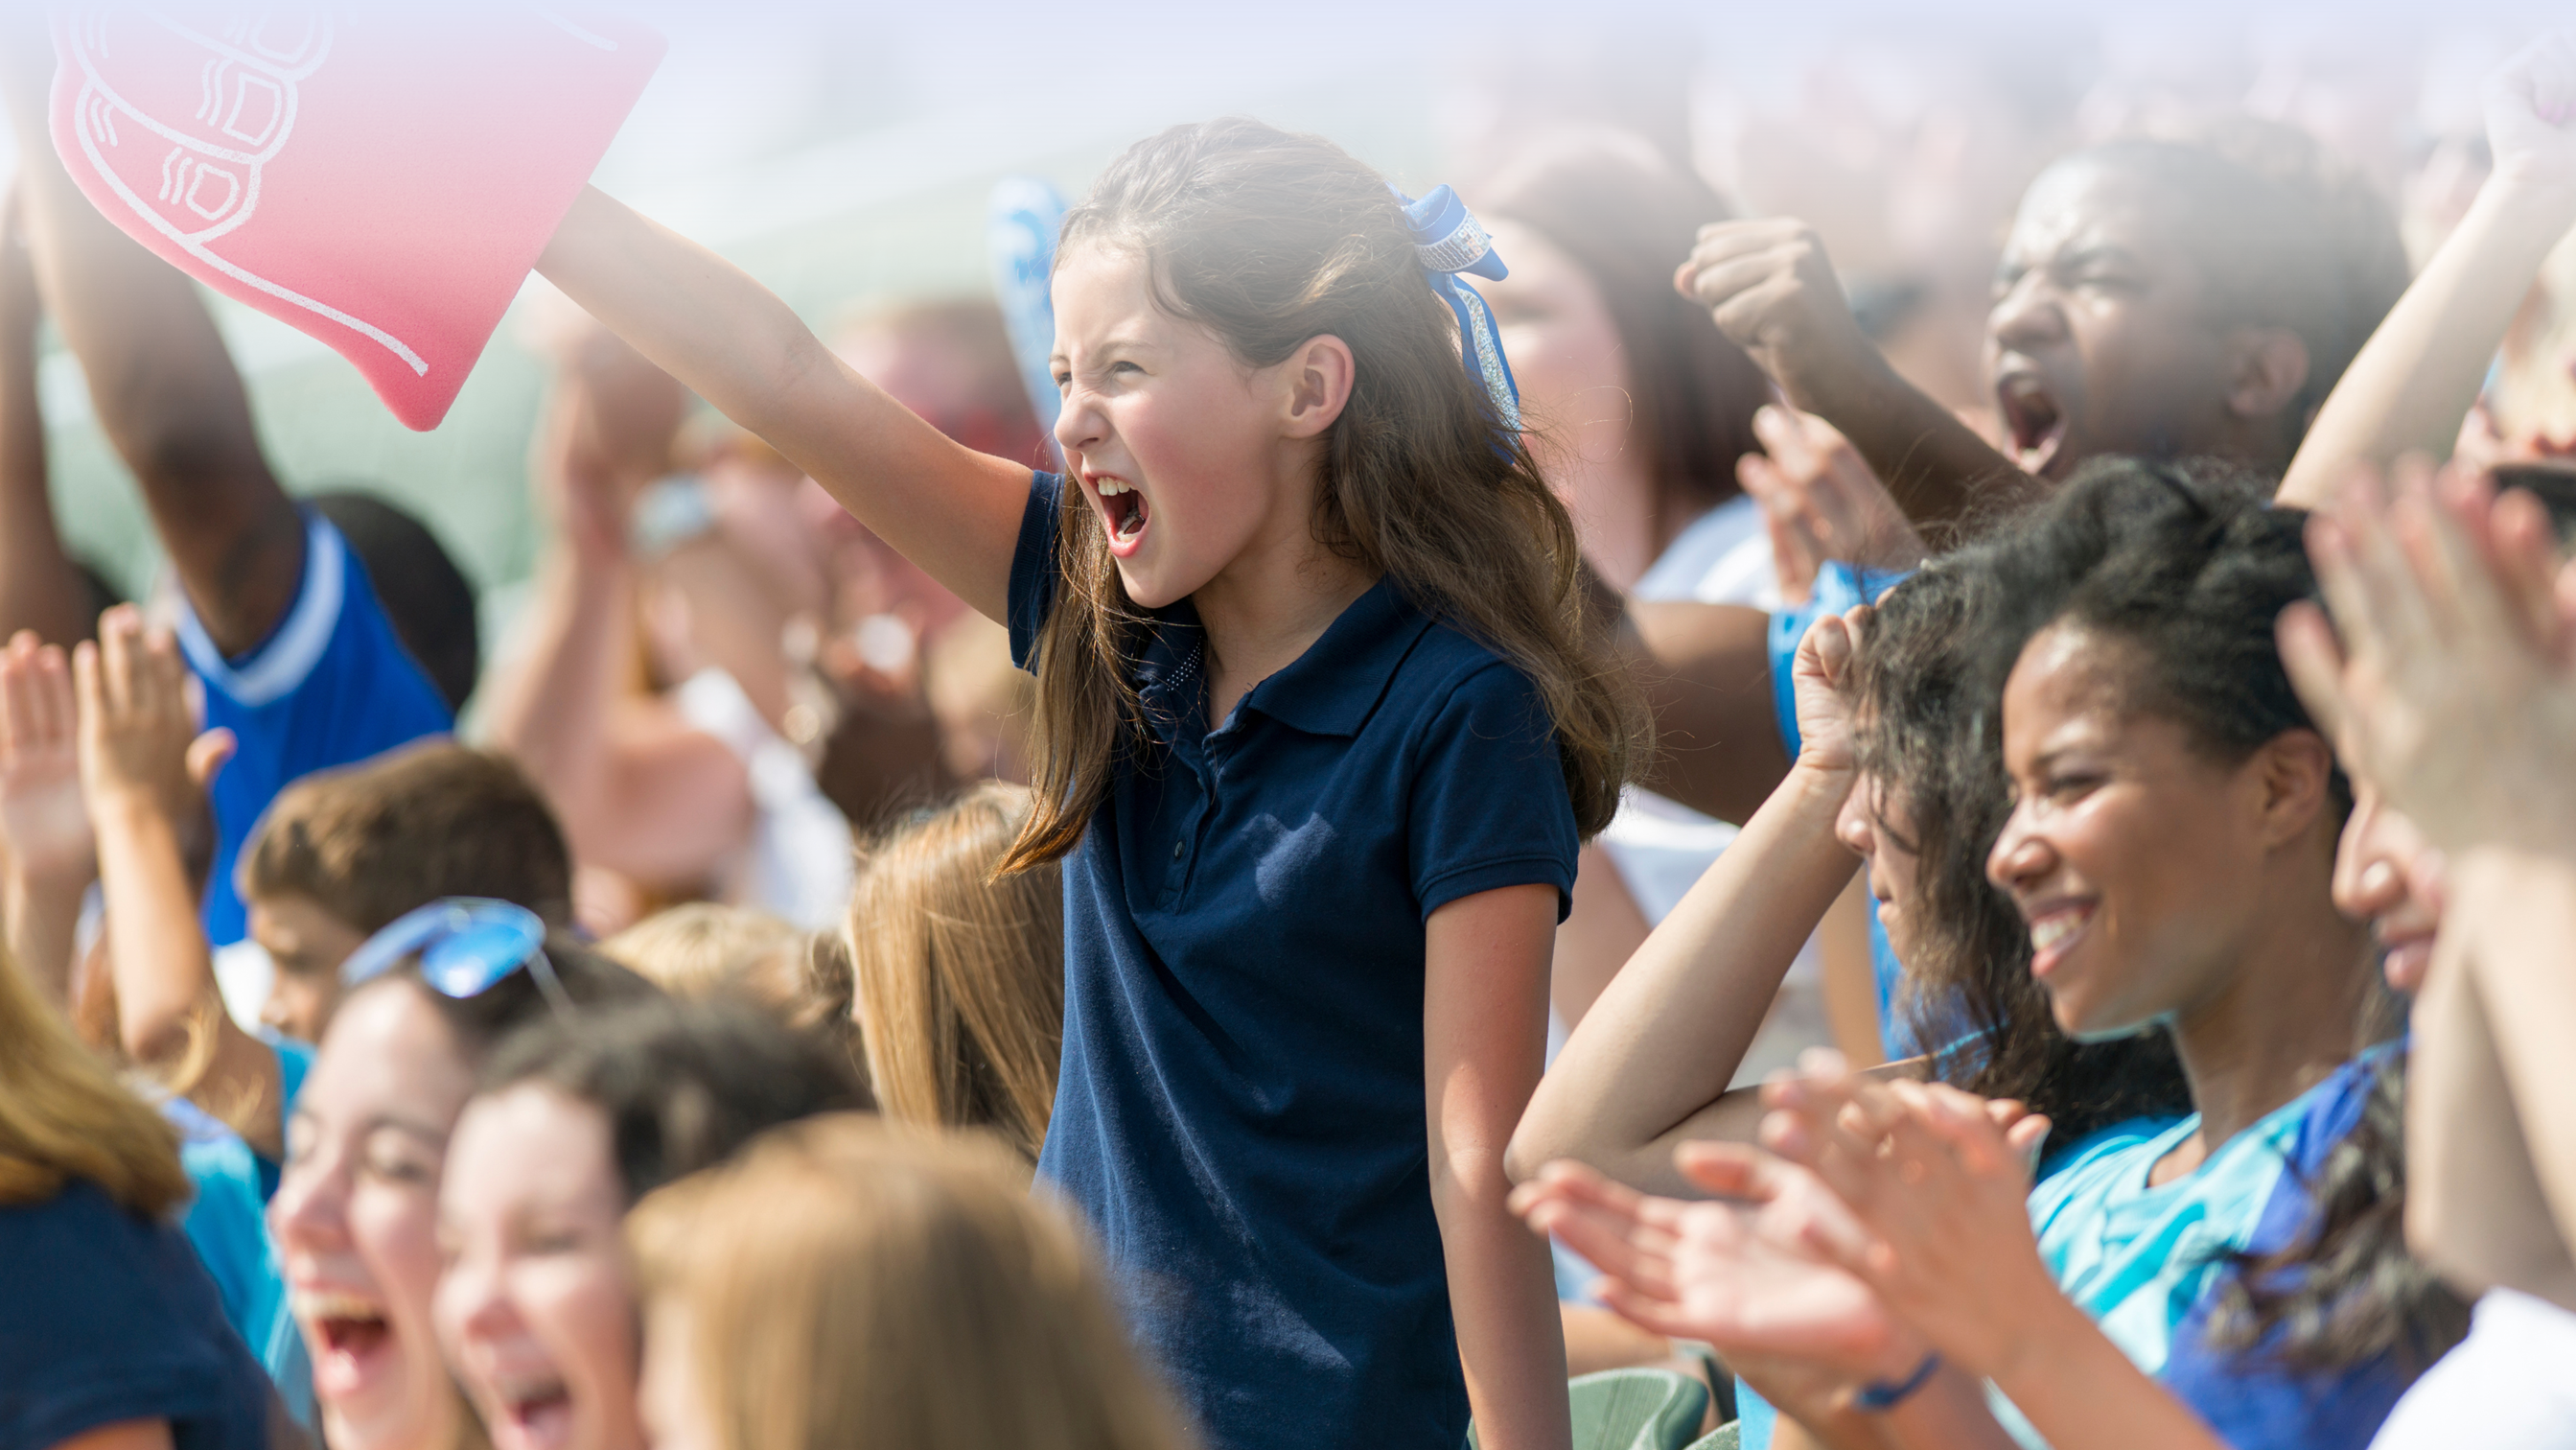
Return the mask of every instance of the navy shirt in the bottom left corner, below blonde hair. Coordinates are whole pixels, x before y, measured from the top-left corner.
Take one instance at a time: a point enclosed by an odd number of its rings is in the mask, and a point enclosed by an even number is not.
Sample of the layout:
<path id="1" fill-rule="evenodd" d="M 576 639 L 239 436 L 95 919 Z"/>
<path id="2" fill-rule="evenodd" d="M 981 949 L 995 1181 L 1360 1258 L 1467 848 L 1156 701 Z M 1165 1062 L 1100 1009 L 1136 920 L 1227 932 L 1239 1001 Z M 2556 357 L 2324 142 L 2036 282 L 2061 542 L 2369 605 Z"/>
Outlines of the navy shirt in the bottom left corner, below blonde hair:
<path id="1" fill-rule="evenodd" d="M 265 1450 L 268 1378 L 173 1223 L 90 1182 L 0 1208 L 0 1445 L 167 1419 L 175 1450 Z"/>

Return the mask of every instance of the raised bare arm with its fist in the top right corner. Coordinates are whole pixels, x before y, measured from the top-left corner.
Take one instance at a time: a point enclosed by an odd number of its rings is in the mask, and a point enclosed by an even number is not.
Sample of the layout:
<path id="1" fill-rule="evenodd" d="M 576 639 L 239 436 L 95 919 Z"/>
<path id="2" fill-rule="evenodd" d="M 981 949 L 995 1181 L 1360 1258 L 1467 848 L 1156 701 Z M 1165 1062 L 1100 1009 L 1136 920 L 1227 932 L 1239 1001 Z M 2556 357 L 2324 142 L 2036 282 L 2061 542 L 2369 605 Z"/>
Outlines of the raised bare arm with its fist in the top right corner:
<path id="1" fill-rule="evenodd" d="M 2488 361 L 2576 224 L 2576 33 L 2517 54 L 2486 100 L 2496 170 L 2316 410 L 2280 502 L 2321 507 L 2354 464 L 2450 456 Z"/>

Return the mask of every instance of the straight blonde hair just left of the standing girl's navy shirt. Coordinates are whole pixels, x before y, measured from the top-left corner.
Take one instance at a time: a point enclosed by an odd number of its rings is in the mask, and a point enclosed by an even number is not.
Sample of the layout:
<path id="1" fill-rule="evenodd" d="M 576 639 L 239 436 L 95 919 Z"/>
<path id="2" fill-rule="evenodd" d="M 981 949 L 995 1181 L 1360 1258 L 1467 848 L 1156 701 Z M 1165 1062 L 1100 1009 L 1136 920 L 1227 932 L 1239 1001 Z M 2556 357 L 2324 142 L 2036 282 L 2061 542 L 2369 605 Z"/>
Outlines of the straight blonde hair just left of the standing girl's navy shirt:
<path id="1" fill-rule="evenodd" d="M 1054 863 L 994 876 L 1028 791 L 984 783 L 860 852 L 850 968 L 878 1107 L 992 1128 L 1036 1162 L 1064 1043 L 1064 889 Z"/>

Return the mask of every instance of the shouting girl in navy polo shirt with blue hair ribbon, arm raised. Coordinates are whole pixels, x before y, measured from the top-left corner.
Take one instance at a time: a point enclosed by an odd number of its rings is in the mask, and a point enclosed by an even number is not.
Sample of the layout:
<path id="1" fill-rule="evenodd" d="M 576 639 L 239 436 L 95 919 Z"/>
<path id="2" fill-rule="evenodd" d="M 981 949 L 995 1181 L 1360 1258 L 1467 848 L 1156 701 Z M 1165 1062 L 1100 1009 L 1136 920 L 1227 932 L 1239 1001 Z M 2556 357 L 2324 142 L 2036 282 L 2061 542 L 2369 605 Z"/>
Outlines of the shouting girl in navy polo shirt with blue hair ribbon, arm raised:
<path id="1" fill-rule="evenodd" d="M 1064 863 L 1038 1174 L 1226 1450 L 1566 1445 L 1502 1151 L 1574 850 L 1643 713 L 1520 446 L 1463 206 L 1252 121 L 1064 221 L 1066 474 L 966 451 L 714 255 L 585 193 L 541 270 L 1007 621 Z M 1466 358 L 1466 368 L 1461 368 Z"/>

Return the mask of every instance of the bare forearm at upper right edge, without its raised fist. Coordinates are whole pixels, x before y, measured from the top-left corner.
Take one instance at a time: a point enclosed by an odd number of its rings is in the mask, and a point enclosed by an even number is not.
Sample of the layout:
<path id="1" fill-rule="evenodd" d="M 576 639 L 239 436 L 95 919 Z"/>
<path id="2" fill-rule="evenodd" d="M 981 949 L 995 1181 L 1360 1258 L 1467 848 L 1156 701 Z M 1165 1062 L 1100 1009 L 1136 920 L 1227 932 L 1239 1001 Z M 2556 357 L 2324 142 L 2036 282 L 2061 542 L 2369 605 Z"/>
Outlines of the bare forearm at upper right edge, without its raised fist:
<path id="1" fill-rule="evenodd" d="M 2316 410 L 2280 502 L 2318 507 L 2357 464 L 2385 466 L 2409 451 L 2447 458 L 2514 312 L 2571 221 L 2576 193 L 2491 178 Z"/>

